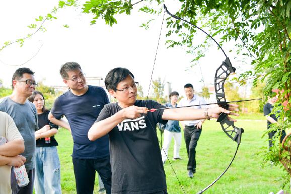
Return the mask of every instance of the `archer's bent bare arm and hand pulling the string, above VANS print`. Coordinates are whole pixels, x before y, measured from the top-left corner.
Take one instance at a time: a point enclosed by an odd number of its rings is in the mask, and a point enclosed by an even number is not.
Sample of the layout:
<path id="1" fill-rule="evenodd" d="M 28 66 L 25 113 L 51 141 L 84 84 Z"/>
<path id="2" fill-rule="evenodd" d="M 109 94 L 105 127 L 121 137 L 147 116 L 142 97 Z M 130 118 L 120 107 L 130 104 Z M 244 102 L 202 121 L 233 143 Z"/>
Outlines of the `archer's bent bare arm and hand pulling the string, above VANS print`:
<path id="1" fill-rule="evenodd" d="M 95 141 L 96 139 L 108 134 L 118 123 L 122 122 L 124 119 L 138 118 L 141 116 L 141 113 L 146 114 L 147 110 L 147 108 L 137 106 L 129 106 L 124 108 L 114 115 L 94 123 L 88 132 L 88 138 L 91 141 Z"/>

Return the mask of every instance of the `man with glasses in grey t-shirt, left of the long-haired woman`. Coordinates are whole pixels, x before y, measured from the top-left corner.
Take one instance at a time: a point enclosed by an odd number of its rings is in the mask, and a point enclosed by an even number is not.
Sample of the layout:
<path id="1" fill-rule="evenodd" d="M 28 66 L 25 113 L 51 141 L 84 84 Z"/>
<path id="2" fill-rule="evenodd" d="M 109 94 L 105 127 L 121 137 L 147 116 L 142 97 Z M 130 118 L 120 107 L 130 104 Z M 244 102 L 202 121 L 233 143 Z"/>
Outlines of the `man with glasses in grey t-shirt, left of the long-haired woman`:
<path id="1" fill-rule="evenodd" d="M 37 83 L 34 72 L 29 68 L 19 68 L 12 77 L 12 95 L 0 100 L 0 111 L 8 113 L 14 120 L 24 139 L 25 150 L 21 154 L 26 158 L 25 168 L 29 183 L 19 187 L 15 175 L 11 173 L 12 193 L 33 193 L 34 179 L 34 150 L 36 147 L 35 131 L 38 130 L 37 111 L 35 106 L 27 100 L 32 95 Z"/>

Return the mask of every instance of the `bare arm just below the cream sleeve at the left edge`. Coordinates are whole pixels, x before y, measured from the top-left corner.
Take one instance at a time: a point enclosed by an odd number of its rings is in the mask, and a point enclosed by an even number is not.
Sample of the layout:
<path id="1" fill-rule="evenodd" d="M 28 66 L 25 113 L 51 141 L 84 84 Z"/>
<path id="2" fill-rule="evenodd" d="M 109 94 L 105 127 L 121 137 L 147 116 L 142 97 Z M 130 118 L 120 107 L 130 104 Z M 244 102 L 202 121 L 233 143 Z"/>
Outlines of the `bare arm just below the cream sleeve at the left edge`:
<path id="1" fill-rule="evenodd" d="M 0 146 L 0 155 L 2 156 L 17 156 L 24 152 L 24 141 L 13 140 Z"/>

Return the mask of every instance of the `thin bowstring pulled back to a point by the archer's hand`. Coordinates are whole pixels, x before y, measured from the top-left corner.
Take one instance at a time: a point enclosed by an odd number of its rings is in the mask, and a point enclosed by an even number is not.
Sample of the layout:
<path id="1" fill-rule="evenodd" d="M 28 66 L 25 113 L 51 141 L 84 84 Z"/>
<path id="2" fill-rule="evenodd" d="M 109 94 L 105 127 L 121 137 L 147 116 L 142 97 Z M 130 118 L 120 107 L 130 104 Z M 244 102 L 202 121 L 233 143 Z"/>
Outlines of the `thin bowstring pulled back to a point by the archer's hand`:
<path id="1" fill-rule="evenodd" d="M 153 70 L 152 70 L 152 74 L 151 74 L 151 80 L 150 80 L 150 85 L 149 85 L 149 89 L 148 89 L 148 95 L 147 95 L 147 99 L 145 100 L 145 107 L 147 107 L 147 103 L 148 103 L 148 99 L 149 99 L 149 94 L 150 94 L 150 89 L 151 89 L 151 84 L 152 84 L 152 79 L 153 79 L 153 74 L 154 74 L 155 64 L 156 64 L 156 60 L 157 60 L 158 49 L 159 49 L 159 45 L 160 45 L 160 39 L 161 39 L 161 34 L 162 34 L 163 24 L 164 24 L 164 20 L 165 20 L 165 13 L 166 13 L 166 10 L 164 11 L 164 15 L 163 15 L 163 21 L 162 21 L 161 30 L 160 30 L 160 35 L 159 35 L 159 40 L 158 40 L 158 45 L 157 45 L 157 49 L 156 49 L 156 55 L 155 55 L 155 60 L 154 60 L 154 65 L 153 65 Z M 145 116 L 148 117 L 147 114 L 145 114 Z M 148 117 L 148 119 L 149 119 L 149 117 Z M 150 120 L 150 119 L 149 119 L 149 120 Z M 156 135 L 157 135 L 157 127 L 154 127 L 154 126 L 152 125 L 151 122 L 149 122 L 149 123 L 150 123 L 151 127 L 153 128 L 153 131 L 154 131 L 154 132 L 156 133 Z M 155 128 L 156 128 L 156 131 L 155 131 Z M 180 184 L 180 186 L 181 186 L 181 188 L 182 188 L 182 190 L 183 190 L 183 193 L 186 194 L 186 192 L 185 192 L 185 190 L 184 190 L 184 188 L 183 188 L 183 186 L 182 186 L 182 184 L 181 184 L 181 182 L 180 182 L 180 180 L 179 180 L 179 178 L 178 178 L 178 176 L 177 176 L 177 174 L 176 174 L 176 172 L 175 172 L 175 170 L 174 170 L 174 168 L 173 168 L 173 166 L 172 166 L 172 163 L 170 162 L 170 159 L 169 159 L 168 155 L 166 154 L 166 151 L 164 150 L 161 141 L 160 141 L 159 138 L 158 138 L 158 135 L 157 135 L 157 140 L 158 140 L 159 144 L 161 145 L 161 148 L 163 149 L 163 152 L 165 153 L 165 155 L 166 155 L 166 157 L 167 157 L 167 160 L 169 161 L 169 164 L 171 165 L 171 168 L 172 168 L 172 170 L 173 170 L 173 172 L 174 172 L 174 174 L 175 174 L 175 176 L 176 176 L 176 178 L 177 178 L 177 180 L 178 180 L 178 182 L 179 182 L 179 184 Z"/>

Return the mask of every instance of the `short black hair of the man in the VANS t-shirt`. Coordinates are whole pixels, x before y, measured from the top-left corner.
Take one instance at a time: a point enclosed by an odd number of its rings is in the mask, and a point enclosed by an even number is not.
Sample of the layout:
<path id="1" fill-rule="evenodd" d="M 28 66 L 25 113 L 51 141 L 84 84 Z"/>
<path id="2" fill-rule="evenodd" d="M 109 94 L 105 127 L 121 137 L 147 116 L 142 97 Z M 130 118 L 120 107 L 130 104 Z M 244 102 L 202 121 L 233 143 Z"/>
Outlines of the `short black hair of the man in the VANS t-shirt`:
<path id="1" fill-rule="evenodd" d="M 114 68 L 113 70 L 110 70 L 104 80 L 106 89 L 108 91 L 111 89 L 116 92 L 116 87 L 119 82 L 125 80 L 127 76 L 131 76 L 132 79 L 134 79 L 133 74 L 126 68 Z"/>

